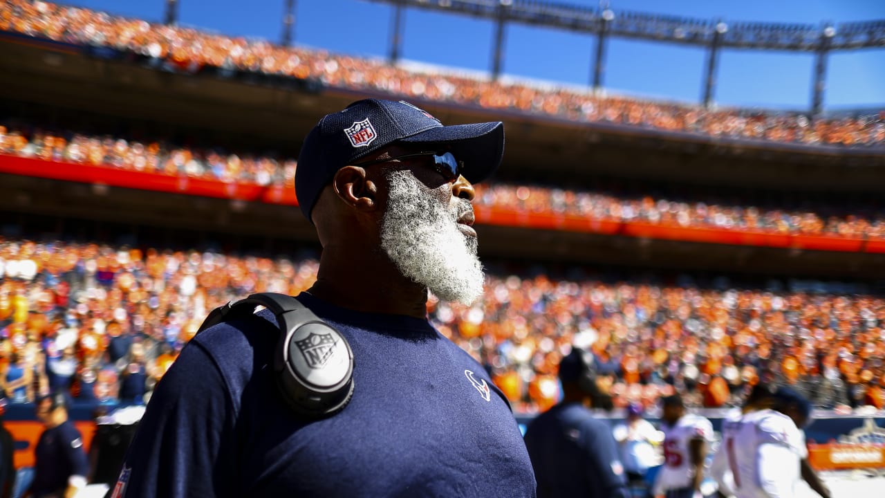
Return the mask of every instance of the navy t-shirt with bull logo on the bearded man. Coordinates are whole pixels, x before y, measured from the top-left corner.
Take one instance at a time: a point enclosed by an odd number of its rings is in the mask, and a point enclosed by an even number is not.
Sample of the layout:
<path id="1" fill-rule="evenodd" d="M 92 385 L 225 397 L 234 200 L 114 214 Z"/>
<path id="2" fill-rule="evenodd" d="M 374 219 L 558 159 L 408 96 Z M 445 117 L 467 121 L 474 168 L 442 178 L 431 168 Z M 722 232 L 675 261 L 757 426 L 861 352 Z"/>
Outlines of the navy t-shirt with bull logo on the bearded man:
<path id="1" fill-rule="evenodd" d="M 535 496 L 504 394 L 469 354 L 427 320 L 298 299 L 350 342 L 350 404 L 300 419 L 269 365 L 273 315 L 220 323 L 159 382 L 118 495 Z"/>

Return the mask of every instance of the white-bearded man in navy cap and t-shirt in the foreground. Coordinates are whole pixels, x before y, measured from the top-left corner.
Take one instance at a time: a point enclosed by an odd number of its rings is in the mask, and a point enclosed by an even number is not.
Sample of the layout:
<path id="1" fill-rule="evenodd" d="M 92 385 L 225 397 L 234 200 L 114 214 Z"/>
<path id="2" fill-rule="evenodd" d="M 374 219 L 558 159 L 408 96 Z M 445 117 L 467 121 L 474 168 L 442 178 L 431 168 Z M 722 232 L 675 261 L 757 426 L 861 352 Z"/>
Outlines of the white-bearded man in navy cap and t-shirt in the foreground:
<path id="1" fill-rule="evenodd" d="M 281 339 L 271 308 L 213 312 L 227 318 L 159 382 L 113 495 L 535 496 L 504 394 L 427 321 L 428 291 L 481 296 L 472 183 L 503 152 L 502 123 L 443 127 L 404 102 L 322 118 L 296 170 L 323 247 L 296 299 L 316 318 Z"/>

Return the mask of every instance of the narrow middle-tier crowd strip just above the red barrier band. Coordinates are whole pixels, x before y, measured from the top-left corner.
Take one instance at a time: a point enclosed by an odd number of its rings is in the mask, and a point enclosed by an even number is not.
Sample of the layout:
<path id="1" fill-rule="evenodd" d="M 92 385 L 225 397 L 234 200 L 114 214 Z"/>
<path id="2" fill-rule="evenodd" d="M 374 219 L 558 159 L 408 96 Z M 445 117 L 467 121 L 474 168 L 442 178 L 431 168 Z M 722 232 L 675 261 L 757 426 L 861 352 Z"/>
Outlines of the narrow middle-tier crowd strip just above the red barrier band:
<path id="1" fill-rule="evenodd" d="M 218 182 L 291 186 L 296 160 L 222 149 L 139 142 L 119 136 L 54 132 L 15 123 L 0 125 L 0 153 L 42 160 L 104 165 L 188 175 Z M 578 191 L 546 185 L 488 183 L 476 186 L 480 206 L 519 213 L 565 214 L 614 222 L 725 230 L 763 230 L 790 235 L 885 239 L 885 208 L 858 206 L 751 206 L 710 196 L 664 198 L 620 191 Z M 650 189 L 645 189 L 650 191 Z M 789 203 L 784 203 L 788 205 Z"/>

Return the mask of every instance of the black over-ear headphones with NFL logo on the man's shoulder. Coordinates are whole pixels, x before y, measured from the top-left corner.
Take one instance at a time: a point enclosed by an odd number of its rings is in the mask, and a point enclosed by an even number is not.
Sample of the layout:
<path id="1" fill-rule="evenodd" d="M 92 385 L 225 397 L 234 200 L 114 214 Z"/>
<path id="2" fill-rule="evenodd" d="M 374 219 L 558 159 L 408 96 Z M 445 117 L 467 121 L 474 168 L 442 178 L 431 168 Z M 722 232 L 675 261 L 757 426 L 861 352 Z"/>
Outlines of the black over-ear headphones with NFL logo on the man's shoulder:
<path id="1" fill-rule="evenodd" d="M 273 371 L 289 407 L 305 418 L 342 410 L 353 395 L 353 351 L 340 332 L 295 298 L 261 292 L 228 302 L 213 309 L 197 333 L 216 323 L 253 315 L 258 306 L 273 312 L 280 326 Z"/>

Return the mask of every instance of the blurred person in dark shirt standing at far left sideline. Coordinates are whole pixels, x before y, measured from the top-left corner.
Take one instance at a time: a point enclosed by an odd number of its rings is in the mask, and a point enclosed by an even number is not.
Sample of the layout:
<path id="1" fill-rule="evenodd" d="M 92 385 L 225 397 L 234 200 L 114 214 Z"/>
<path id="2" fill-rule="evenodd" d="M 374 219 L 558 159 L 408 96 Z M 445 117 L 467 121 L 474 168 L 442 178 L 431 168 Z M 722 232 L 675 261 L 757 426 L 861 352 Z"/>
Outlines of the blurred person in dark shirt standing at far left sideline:
<path id="1" fill-rule="evenodd" d="M 67 419 L 64 393 L 52 393 L 36 402 L 37 418 L 46 430 L 35 448 L 33 498 L 71 498 L 84 486 L 89 460 L 80 431 Z"/>

